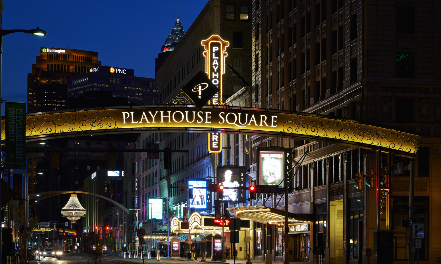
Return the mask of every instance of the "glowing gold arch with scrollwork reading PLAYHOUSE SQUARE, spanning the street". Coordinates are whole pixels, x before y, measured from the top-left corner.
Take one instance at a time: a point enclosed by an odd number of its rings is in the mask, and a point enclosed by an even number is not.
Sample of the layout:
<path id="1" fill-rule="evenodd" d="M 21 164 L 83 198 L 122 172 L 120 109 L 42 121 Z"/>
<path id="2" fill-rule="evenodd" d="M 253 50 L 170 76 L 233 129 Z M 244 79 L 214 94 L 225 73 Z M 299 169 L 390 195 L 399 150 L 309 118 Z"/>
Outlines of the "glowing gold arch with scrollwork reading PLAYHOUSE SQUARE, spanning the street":
<path id="1" fill-rule="evenodd" d="M 1 138 L 7 139 L 2 120 Z M 420 136 L 379 124 L 325 115 L 232 106 L 150 105 L 26 115 L 26 140 L 80 135 L 217 132 L 299 138 L 416 156 Z"/>

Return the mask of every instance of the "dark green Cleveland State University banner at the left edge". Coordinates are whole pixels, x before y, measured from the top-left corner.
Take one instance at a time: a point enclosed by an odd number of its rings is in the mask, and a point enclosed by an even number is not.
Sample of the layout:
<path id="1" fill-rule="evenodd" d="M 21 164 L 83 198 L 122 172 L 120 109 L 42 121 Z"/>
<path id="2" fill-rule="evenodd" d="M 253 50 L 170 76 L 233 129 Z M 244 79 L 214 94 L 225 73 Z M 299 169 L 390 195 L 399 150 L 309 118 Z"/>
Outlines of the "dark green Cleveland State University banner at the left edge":
<path id="1" fill-rule="evenodd" d="M 26 103 L 5 102 L 6 153 L 8 169 L 26 169 Z"/>

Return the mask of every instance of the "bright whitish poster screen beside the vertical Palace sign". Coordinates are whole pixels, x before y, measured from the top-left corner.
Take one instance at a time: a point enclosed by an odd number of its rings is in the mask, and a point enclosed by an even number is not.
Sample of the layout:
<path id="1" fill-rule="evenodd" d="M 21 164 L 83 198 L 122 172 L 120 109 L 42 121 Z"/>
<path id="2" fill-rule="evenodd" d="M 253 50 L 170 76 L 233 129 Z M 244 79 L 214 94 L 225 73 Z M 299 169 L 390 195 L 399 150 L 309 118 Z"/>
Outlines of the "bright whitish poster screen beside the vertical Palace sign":
<path id="1" fill-rule="evenodd" d="M 283 151 L 259 151 L 260 184 L 279 185 L 284 175 Z M 281 184 L 283 186 L 283 184 Z"/>

